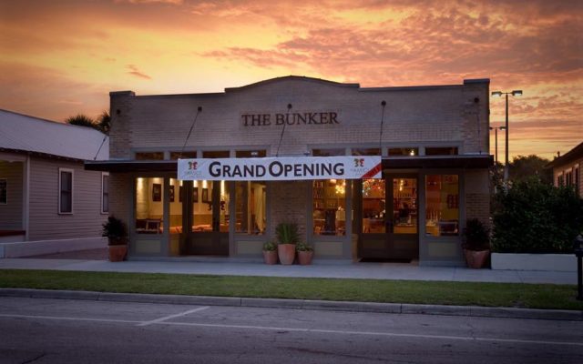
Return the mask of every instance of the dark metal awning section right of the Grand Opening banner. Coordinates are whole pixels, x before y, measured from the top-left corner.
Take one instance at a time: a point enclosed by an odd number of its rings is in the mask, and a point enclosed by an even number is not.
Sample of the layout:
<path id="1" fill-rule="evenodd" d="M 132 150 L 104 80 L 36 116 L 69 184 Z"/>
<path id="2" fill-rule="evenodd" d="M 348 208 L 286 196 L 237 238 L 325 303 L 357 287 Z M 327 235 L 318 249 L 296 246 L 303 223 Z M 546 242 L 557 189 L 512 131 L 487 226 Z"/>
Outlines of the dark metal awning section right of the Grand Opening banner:
<path id="1" fill-rule="evenodd" d="M 494 165 L 494 156 L 415 156 L 383 157 L 383 169 L 404 168 L 488 168 Z"/>

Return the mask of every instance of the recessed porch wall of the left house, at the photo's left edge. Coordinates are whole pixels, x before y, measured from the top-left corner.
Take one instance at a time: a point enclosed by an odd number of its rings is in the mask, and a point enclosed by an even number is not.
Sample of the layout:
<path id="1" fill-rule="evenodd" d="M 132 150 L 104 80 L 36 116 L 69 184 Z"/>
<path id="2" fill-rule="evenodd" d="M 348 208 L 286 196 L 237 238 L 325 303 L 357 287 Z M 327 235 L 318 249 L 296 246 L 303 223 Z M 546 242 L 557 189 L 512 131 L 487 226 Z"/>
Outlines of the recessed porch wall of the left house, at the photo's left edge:
<path id="1" fill-rule="evenodd" d="M 22 230 L 23 162 L 0 160 L 0 179 L 7 179 L 8 203 L 0 204 L 0 229 Z"/>

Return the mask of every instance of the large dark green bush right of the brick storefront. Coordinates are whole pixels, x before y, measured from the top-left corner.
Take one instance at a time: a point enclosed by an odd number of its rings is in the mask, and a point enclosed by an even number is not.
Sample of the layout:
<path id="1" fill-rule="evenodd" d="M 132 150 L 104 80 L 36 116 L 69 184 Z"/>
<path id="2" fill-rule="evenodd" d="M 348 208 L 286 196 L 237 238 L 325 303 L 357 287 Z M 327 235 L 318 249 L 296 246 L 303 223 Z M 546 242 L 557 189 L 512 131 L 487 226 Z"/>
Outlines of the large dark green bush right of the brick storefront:
<path id="1" fill-rule="evenodd" d="M 572 253 L 583 228 L 583 200 L 572 187 L 538 178 L 496 195 L 493 249 L 500 253 Z"/>

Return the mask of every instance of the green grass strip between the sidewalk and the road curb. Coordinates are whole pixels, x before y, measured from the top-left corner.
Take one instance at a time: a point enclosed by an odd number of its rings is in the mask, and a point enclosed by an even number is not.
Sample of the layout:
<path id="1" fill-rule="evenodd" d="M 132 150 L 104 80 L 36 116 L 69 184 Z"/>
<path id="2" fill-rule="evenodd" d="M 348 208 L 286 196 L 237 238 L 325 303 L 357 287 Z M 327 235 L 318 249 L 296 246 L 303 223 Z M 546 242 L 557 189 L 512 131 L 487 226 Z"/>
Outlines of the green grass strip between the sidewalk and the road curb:
<path id="1" fill-rule="evenodd" d="M 583 310 L 577 286 L 0 269 L 0 288 Z"/>

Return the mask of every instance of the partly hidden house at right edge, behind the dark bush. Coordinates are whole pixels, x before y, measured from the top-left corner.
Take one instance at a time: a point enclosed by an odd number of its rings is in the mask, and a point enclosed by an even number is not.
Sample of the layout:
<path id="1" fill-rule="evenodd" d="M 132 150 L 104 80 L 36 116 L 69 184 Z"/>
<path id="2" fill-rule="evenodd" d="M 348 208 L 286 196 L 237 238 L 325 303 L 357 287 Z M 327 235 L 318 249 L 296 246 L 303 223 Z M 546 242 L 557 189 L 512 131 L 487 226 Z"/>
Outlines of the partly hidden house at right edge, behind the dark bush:
<path id="1" fill-rule="evenodd" d="M 553 168 L 553 183 L 555 186 L 574 186 L 578 196 L 583 198 L 583 143 L 569 150 L 563 156 L 556 157 L 547 167 Z"/>

